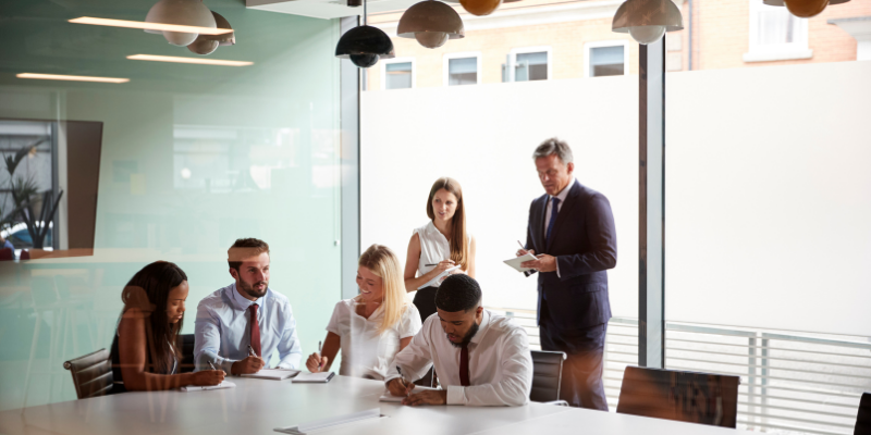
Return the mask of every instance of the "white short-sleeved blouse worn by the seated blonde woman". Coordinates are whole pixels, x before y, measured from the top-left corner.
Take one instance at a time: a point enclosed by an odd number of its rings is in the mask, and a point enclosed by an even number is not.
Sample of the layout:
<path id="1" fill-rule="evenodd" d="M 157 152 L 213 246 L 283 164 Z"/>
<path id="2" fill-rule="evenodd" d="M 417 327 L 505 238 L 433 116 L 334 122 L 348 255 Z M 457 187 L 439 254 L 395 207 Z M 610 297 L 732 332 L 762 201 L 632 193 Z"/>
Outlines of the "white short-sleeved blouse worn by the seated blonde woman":
<path id="1" fill-rule="evenodd" d="M 383 381 L 389 364 L 400 352 L 400 339 L 413 337 L 420 331 L 420 314 L 413 303 L 405 307 L 400 321 L 378 334 L 383 308 L 379 307 L 369 319 L 357 314 L 357 298 L 335 304 L 327 331 L 338 335 L 342 346 L 342 365 L 339 374 Z"/>

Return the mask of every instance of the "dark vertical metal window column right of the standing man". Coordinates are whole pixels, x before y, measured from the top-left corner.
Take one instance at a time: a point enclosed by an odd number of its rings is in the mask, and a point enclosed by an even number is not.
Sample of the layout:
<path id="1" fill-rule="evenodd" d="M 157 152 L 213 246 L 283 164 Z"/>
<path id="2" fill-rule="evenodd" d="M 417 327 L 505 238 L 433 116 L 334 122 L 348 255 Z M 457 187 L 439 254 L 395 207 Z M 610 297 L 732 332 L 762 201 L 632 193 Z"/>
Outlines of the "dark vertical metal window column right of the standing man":
<path id="1" fill-rule="evenodd" d="M 665 368 L 665 38 L 639 46 L 638 365 Z"/>

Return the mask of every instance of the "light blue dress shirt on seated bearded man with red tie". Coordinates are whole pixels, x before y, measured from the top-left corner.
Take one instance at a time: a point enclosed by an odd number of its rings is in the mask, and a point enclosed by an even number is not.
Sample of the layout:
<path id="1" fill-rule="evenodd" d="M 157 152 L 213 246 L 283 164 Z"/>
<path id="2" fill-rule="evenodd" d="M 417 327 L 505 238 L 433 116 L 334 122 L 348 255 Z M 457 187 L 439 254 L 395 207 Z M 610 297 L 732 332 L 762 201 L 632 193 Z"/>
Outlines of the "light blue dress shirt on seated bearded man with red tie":
<path id="1" fill-rule="evenodd" d="M 208 370 L 209 362 L 230 374 L 234 362 L 248 356 L 250 326 L 248 307 L 258 303 L 257 323 L 260 325 L 260 350 L 267 366 L 278 351 L 278 366 L 298 369 L 303 348 L 296 337 L 296 320 L 287 297 L 267 288 L 266 296 L 252 301 L 231 284 L 205 297 L 197 306 L 194 325 L 196 370 Z"/>

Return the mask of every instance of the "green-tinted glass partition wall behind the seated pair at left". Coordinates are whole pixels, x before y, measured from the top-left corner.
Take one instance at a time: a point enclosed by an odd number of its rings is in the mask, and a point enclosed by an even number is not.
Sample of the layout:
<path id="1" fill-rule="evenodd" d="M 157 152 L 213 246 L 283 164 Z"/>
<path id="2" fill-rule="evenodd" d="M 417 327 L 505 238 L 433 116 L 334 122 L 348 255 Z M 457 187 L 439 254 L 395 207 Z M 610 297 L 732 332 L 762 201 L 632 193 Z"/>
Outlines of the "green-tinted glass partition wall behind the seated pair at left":
<path id="1" fill-rule="evenodd" d="M 160 34 L 68 22 L 144 21 L 154 3 L 2 5 L 0 151 L 14 157 L 21 144 L 46 136 L 28 125 L 59 125 L 58 158 L 79 159 L 70 171 L 93 165 L 99 183 L 89 256 L 0 261 L 0 409 L 75 398 L 63 361 L 111 345 L 124 284 L 156 260 L 188 276 L 184 334 L 194 331 L 197 302 L 233 282 L 226 250 L 236 238 L 270 244 L 270 287 L 290 298 L 304 352 L 315 351 L 341 298 L 338 22 L 208 1 L 236 38 L 210 55 Z M 136 60 L 143 54 L 232 62 Z M 19 76 L 25 73 L 120 83 Z M 73 122 L 102 128 L 75 136 Z M 96 147 L 75 150 L 74 137 Z M 86 190 L 72 184 L 72 172 L 37 164 L 48 159 L 46 147 L 25 151 L 21 167 L 39 191 L 59 179 L 70 200 L 60 213 L 77 215 L 76 192 Z M 81 234 L 69 233 L 60 235 Z"/>

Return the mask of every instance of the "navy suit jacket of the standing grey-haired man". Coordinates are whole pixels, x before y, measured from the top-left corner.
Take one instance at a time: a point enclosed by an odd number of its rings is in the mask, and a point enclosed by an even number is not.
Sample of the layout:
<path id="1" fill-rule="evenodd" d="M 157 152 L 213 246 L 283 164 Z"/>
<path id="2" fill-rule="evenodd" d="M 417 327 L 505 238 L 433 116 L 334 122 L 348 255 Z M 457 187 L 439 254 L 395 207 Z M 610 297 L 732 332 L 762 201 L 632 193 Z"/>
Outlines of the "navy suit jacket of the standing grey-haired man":
<path id="1" fill-rule="evenodd" d="M 604 195 L 575 181 L 556 214 L 551 244 L 544 237 L 544 212 L 549 195 L 529 207 L 526 249 L 556 257 L 556 272 L 538 274 L 538 321 L 541 299 L 548 315 L 564 331 L 582 330 L 611 319 L 608 273 L 617 264 L 617 235 L 611 203 Z"/>

